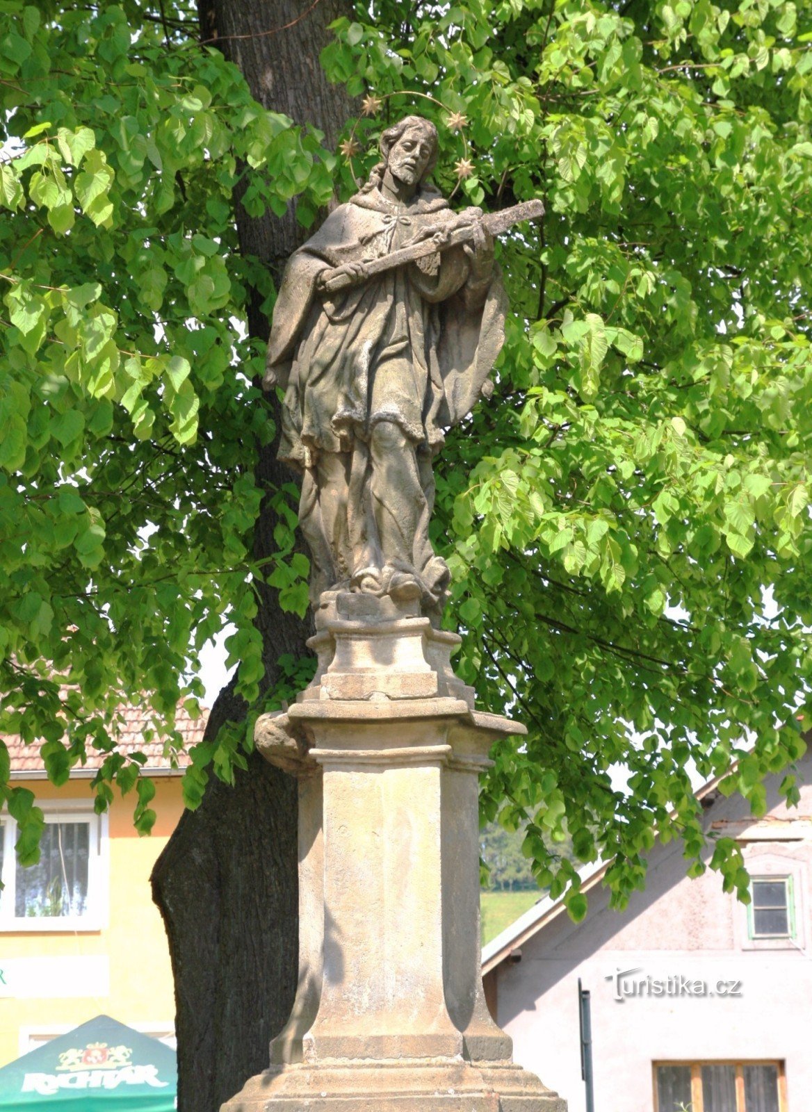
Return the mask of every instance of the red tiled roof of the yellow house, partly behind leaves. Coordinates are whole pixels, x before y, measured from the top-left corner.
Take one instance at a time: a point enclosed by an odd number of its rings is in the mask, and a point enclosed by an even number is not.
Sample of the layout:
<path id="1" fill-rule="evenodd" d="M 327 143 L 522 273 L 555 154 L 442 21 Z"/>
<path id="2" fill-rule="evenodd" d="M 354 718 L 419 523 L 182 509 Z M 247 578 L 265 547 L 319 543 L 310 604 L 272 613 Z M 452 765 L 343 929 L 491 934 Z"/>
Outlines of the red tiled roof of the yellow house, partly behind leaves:
<path id="1" fill-rule="evenodd" d="M 175 754 L 174 757 L 168 752 L 165 752 L 165 739 L 162 737 L 154 736 L 149 742 L 143 739 L 145 729 L 149 729 L 151 726 L 148 713 L 138 707 L 128 706 L 121 708 L 120 715 L 123 718 L 123 724 L 120 726 L 120 741 L 116 746 L 119 753 L 143 753 L 147 757 L 147 764 L 143 766 L 145 770 L 172 770 L 177 765 L 182 771 L 189 764 L 188 751 L 192 745 L 197 745 L 198 742 L 202 741 L 208 709 L 201 707 L 200 717 L 191 718 L 182 706 L 178 706 L 175 725 L 184 739 L 184 752 Z M 40 748 L 43 744 L 41 741 L 31 742 L 27 745 L 20 739 L 19 735 L 3 734 L 0 737 L 2 737 L 2 741 L 8 746 L 12 774 L 16 773 L 19 776 L 21 773 L 27 772 L 44 772 L 44 763 L 40 756 Z M 97 749 L 88 746 L 86 764 L 77 764 L 73 772 L 99 768 L 106 756 L 107 754 L 99 753 Z"/>

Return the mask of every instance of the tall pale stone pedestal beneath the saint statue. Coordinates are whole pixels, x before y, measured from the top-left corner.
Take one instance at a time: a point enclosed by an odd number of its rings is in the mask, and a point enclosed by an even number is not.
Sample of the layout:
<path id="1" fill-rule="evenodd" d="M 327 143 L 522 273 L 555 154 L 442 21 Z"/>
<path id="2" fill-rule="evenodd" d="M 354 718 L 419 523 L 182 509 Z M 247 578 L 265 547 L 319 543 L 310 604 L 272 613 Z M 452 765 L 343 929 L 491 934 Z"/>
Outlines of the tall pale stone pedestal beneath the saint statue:
<path id="1" fill-rule="evenodd" d="M 474 709 L 454 634 L 327 595 L 313 684 L 257 723 L 299 784 L 299 983 L 270 1066 L 221 1112 L 565 1112 L 482 986 L 477 777 L 521 726 Z"/>

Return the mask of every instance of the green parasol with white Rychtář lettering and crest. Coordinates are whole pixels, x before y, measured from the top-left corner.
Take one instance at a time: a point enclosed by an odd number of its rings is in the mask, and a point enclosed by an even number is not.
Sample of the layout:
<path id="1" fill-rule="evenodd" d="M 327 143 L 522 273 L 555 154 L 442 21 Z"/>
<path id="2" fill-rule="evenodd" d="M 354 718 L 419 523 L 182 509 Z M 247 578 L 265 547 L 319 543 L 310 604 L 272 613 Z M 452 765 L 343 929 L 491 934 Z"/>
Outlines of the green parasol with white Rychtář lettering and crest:
<path id="1" fill-rule="evenodd" d="M 97 1015 L 0 1070 L 0 1112 L 174 1112 L 175 1051 Z"/>

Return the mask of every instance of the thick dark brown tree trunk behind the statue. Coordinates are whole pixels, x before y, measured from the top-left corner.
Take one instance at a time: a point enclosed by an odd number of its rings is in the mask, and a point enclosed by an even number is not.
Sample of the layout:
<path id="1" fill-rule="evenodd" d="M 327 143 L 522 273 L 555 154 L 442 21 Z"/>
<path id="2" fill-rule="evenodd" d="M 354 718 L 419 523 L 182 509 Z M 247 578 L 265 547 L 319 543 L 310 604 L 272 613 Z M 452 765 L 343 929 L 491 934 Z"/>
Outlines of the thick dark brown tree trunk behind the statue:
<path id="1" fill-rule="evenodd" d="M 329 22 L 350 10 L 349 0 L 198 0 L 202 39 L 216 40 L 239 66 L 254 97 L 296 123 L 318 127 L 330 149 L 353 105 L 343 88 L 328 85 L 318 56 Z M 281 219 L 252 219 L 238 205 L 237 228 L 240 249 L 258 256 L 277 280 L 305 238 L 293 206 Z M 251 335 L 267 338 L 256 298 L 248 322 Z M 270 490 L 290 481 L 275 446 L 264 450 L 258 477 Z M 265 509 L 256 556 L 275 550 L 275 524 Z M 273 684 L 283 653 L 306 653 L 308 629 L 279 609 L 270 589 L 263 593 L 257 624 Z M 215 702 L 206 739 L 245 711 L 229 684 Z M 202 804 L 184 814 L 152 873 L 175 974 L 180 1112 L 217 1112 L 268 1065 L 269 1040 L 287 1020 L 296 990 L 296 788 L 256 754 L 248 765 L 234 787 L 212 777 Z"/>

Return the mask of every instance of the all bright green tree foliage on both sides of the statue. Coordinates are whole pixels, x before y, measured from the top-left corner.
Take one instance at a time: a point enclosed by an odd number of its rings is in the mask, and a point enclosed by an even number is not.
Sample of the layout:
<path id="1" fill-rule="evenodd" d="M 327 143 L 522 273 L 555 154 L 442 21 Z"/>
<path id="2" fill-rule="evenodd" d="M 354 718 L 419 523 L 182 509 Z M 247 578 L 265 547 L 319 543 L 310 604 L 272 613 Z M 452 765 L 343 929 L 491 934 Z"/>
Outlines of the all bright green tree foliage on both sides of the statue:
<path id="1" fill-rule="evenodd" d="M 254 215 L 295 199 L 310 226 L 350 169 L 251 101 L 185 3 L 165 7 L 161 23 L 146 0 L 0 0 L 0 729 L 46 737 L 56 783 L 86 746 L 111 751 L 121 704 L 171 727 L 226 615 L 258 709 L 255 584 L 306 605 L 295 487 L 254 475 L 275 430 L 245 304 L 274 291 L 236 250 L 234 192 Z M 812 4 L 372 11 L 323 58 L 384 99 L 347 121 L 355 172 L 387 119 L 418 110 L 455 201 L 547 208 L 499 245 L 513 315 L 496 390 L 438 469 L 459 672 L 529 729 L 494 753 L 484 815 L 528 823 L 536 877 L 575 917 L 575 866 L 546 850 L 564 828 L 580 860 L 612 862 L 618 905 L 655 831 L 745 895 L 734 843 L 705 846 L 690 771 L 760 814 L 770 773 L 790 766 L 796 798 L 810 724 Z M 258 567 L 264 495 L 287 525 Z M 250 725 L 195 752 L 189 805 L 246 745 Z M 98 805 L 135 787 L 147 830 L 138 772 L 110 752 Z M 31 860 L 41 814 L 2 791 Z"/>

